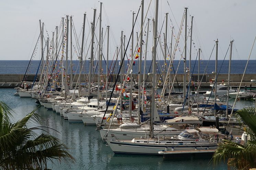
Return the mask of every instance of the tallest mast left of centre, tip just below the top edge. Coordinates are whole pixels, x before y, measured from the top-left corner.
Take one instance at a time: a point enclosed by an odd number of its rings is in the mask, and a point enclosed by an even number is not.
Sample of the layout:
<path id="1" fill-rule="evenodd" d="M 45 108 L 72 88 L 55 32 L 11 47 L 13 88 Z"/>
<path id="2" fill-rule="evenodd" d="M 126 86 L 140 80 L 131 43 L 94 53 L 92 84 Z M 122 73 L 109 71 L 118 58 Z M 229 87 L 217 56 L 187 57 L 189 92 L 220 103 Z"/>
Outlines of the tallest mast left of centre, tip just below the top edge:
<path id="1" fill-rule="evenodd" d="M 100 108 L 100 81 L 101 81 L 101 10 L 102 10 L 102 2 L 101 2 L 101 7 L 100 7 L 100 28 L 99 28 L 99 51 L 98 51 L 98 81 L 97 81 L 97 85 L 98 85 L 98 91 L 97 91 L 97 103 L 98 103 L 98 109 Z"/>

